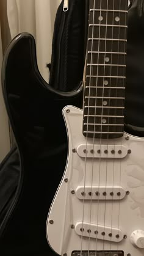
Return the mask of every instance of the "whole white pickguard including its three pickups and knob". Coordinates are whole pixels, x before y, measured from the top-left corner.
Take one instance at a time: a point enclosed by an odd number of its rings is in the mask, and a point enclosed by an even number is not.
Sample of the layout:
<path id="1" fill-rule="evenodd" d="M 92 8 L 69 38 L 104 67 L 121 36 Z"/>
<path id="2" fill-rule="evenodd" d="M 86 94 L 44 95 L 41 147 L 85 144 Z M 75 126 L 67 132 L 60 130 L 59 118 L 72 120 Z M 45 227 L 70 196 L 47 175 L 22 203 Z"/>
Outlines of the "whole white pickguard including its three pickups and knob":
<path id="1" fill-rule="evenodd" d="M 95 139 L 93 146 L 93 139 L 82 134 L 83 111 L 67 106 L 63 115 L 68 159 L 48 214 L 49 245 L 57 254 L 67 256 L 73 251 L 123 251 L 124 256 L 143 256 L 144 138 L 124 133 L 119 139 Z M 99 157 L 94 153 L 98 147 Z M 104 191 L 107 194 L 103 195 Z"/>

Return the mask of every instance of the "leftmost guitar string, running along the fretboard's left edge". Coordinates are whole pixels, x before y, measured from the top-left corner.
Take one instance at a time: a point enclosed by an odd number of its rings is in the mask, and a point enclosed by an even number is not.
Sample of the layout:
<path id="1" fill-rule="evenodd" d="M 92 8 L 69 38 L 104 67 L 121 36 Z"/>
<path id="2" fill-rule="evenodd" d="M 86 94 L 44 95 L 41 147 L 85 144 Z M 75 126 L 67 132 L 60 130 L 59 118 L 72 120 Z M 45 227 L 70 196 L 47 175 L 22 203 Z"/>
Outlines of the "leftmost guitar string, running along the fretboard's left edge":
<path id="1" fill-rule="evenodd" d="M 95 0 L 93 0 L 93 9 L 95 9 Z M 90 13 L 89 13 L 89 15 L 90 15 Z M 95 18 L 95 12 L 93 12 L 92 48 L 93 48 L 94 18 Z M 88 31 L 90 31 L 90 26 L 88 27 Z M 89 33 L 88 33 L 88 34 L 89 34 Z M 88 41 L 87 41 L 87 60 L 88 60 Z M 90 56 L 90 77 L 89 77 L 89 87 L 88 87 L 87 136 L 86 136 L 85 167 L 84 167 L 84 200 L 83 200 L 83 212 L 82 212 L 81 256 L 82 256 L 82 244 L 83 244 L 83 233 L 84 233 L 85 182 L 86 182 L 86 172 L 87 172 L 87 142 L 88 142 L 88 119 L 89 119 L 89 106 L 90 106 L 90 84 L 91 84 L 91 76 L 92 76 L 92 50 L 91 50 L 91 56 Z"/>

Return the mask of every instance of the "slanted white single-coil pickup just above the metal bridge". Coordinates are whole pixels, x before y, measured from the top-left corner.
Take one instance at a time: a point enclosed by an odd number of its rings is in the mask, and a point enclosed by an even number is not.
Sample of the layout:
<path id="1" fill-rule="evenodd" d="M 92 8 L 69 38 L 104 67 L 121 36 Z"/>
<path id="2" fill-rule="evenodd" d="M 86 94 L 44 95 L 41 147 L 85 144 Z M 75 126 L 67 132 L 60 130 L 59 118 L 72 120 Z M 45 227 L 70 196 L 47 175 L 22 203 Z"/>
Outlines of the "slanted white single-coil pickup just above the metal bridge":
<path id="1" fill-rule="evenodd" d="M 123 233 L 120 229 L 114 229 L 113 227 L 106 227 L 102 225 L 90 224 L 87 222 L 77 222 L 75 225 L 75 231 L 79 236 L 86 236 L 99 240 L 120 242 L 123 240 Z"/>

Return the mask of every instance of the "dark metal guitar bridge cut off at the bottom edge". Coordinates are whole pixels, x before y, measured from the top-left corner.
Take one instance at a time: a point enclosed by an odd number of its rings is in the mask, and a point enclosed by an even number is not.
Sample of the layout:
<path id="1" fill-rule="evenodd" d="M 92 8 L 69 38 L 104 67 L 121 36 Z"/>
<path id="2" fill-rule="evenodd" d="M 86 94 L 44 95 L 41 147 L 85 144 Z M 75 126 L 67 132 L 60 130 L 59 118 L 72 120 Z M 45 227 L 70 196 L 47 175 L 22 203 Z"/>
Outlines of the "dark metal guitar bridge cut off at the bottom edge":
<path id="1" fill-rule="evenodd" d="M 71 256 L 124 256 L 123 251 L 75 251 Z"/>

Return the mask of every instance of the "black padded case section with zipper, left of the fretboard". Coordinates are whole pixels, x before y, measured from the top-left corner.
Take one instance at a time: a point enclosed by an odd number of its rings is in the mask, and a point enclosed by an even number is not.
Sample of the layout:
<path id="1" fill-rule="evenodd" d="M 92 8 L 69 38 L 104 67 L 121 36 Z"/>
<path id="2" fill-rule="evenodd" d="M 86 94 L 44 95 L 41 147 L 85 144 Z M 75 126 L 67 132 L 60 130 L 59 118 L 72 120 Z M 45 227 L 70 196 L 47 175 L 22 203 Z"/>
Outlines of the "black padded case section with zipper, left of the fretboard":
<path id="1" fill-rule="evenodd" d="M 69 0 L 68 12 L 63 1 L 57 11 L 52 42 L 49 85 L 63 92 L 77 88 L 84 72 L 87 43 L 88 0 Z"/>

